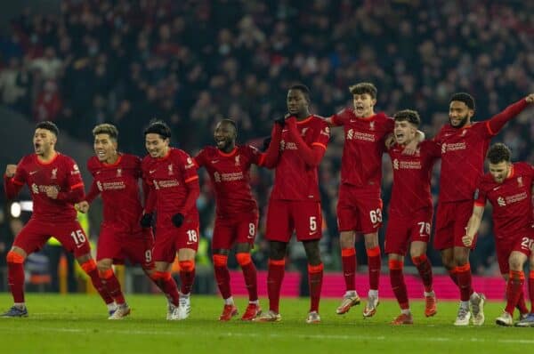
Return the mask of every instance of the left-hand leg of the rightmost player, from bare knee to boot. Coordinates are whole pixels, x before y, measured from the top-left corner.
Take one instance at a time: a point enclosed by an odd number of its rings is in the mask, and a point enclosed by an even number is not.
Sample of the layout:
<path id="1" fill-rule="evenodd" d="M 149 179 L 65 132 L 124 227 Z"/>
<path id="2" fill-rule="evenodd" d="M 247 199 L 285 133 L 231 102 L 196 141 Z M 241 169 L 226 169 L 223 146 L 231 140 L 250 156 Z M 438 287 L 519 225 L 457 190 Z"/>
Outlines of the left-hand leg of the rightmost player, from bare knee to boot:
<path id="1" fill-rule="evenodd" d="M 513 251 L 508 258 L 510 273 L 506 282 L 506 308 L 501 316 L 495 322 L 499 326 L 512 326 L 514 324 L 514 309 L 519 302 L 522 293 L 522 287 L 525 282 L 523 264 L 527 261 L 526 254 Z"/>

